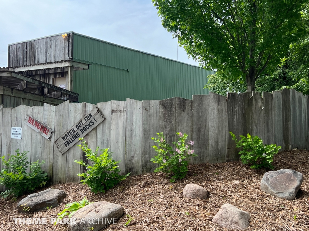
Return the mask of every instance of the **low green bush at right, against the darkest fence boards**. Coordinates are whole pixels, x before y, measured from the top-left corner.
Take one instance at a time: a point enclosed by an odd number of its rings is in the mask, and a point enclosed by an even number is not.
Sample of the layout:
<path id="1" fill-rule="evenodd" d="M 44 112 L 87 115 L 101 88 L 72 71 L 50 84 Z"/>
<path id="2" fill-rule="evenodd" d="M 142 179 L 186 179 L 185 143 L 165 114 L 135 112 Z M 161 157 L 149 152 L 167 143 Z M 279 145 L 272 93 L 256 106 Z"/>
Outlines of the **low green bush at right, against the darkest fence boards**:
<path id="1" fill-rule="evenodd" d="M 243 148 L 238 154 L 243 164 L 250 164 L 250 168 L 271 168 L 273 169 L 273 156 L 278 153 L 281 146 L 276 144 L 264 145 L 263 141 L 254 136 L 253 140 L 250 134 L 240 136 L 241 140 L 237 140 L 236 136 L 230 132 L 232 139 L 235 140 L 237 148 Z"/>

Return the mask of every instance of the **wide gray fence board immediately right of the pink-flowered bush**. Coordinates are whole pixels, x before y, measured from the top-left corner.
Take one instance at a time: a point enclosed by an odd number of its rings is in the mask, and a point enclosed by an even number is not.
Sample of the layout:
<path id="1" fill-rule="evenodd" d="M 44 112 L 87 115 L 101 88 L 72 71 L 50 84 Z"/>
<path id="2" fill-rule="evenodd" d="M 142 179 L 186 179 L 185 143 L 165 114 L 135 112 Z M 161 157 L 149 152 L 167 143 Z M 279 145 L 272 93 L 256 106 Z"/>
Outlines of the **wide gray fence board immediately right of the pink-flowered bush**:
<path id="1" fill-rule="evenodd" d="M 209 162 L 209 95 L 193 95 L 193 164 Z"/>

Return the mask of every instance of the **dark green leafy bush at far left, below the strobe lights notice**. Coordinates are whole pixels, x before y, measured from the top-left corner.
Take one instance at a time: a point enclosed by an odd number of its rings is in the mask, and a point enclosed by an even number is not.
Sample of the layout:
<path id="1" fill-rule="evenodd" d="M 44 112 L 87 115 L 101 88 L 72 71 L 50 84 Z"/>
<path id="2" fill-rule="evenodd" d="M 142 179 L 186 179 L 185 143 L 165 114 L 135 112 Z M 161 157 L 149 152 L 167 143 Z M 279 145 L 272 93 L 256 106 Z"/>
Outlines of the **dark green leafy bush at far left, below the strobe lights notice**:
<path id="1" fill-rule="evenodd" d="M 0 184 L 9 188 L 0 194 L 2 198 L 32 193 L 35 188 L 42 187 L 49 180 L 47 173 L 41 169 L 41 165 L 45 163 L 44 160 L 41 163 L 37 160 L 30 164 L 27 161 L 28 152 L 19 153 L 19 149 L 15 152 L 16 155 L 8 155 L 10 157 L 8 160 L 5 160 L 5 156 L 1 157 L 5 168 L 0 172 Z M 28 168 L 30 173 L 27 172 Z"/>

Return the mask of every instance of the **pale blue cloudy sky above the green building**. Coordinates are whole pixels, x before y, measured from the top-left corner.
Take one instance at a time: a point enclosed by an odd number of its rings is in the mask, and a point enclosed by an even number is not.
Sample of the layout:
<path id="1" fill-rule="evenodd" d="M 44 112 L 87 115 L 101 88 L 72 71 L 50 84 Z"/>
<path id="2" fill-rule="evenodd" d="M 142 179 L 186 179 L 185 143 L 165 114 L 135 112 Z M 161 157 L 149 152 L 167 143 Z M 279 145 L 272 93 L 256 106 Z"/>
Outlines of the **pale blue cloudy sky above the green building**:
<path id="1" fill-rule="evenodd" d="M 0 66 L 7 45 L 74 31 L 177 60 L 177 40 L 161 25 L 151 0 L 0 0 Z M 178 60 L 198 65 L 182 47 Z"/>

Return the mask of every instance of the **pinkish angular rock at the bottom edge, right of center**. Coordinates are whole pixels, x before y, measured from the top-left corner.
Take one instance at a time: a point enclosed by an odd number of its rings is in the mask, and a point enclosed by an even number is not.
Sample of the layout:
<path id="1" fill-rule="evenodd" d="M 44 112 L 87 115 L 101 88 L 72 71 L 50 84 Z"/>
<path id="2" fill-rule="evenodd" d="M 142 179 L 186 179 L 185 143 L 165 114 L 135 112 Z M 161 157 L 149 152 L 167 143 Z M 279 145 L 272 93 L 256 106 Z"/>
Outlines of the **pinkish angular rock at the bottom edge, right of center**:
<path id="1" fill-rule="evenodd" d="M 223 229 L 245 230 L 249 227 L 249 220 L 249 213 L 231 204 L 224 204 L 212 222 L 220 225 Z"/>

